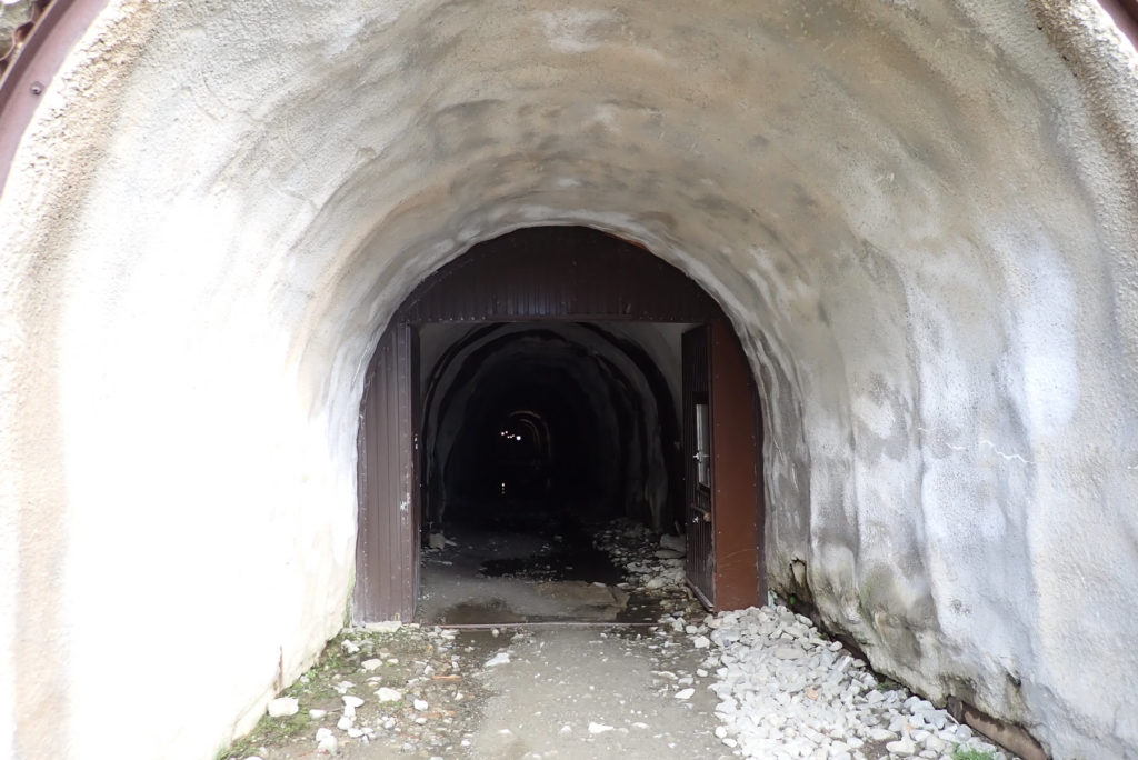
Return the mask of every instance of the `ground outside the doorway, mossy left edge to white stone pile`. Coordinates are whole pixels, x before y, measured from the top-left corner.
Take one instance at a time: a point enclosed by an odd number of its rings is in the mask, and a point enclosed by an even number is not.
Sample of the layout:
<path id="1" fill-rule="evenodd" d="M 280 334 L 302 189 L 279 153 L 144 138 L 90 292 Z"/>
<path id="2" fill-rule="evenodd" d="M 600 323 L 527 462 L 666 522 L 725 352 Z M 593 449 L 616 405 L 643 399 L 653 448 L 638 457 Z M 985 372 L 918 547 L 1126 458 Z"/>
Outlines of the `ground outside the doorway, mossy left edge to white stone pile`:
<path id="1" fill-rule="evenodd" d="M 347 629 L 220 757 L 729 757 L 700 660 L 667 627 Z"/>

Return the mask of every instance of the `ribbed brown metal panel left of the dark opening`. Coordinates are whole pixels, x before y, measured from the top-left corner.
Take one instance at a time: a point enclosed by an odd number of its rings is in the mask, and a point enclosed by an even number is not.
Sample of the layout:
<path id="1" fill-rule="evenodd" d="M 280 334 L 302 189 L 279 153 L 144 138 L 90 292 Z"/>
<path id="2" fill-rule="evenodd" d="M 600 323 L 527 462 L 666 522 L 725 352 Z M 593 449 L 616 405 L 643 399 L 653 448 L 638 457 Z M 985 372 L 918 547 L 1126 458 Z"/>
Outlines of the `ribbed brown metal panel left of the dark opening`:
<path id="1" fill-rule="evenodd" d="M 410 621 L 419 594 L 418 338 L 390 324 L 360 410 L 356 622 Z"/>

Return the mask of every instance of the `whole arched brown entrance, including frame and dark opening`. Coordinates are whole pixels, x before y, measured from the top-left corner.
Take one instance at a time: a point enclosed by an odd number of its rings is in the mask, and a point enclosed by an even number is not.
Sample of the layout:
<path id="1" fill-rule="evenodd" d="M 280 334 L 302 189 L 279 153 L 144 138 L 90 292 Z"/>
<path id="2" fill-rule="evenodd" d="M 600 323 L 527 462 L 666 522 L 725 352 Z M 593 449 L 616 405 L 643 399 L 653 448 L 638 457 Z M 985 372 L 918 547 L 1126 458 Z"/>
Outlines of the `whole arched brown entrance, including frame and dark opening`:
<path id="1" fill-rule="evenodd" d="M 356 620 L 645 614 L 595 545 L 615 523 L 686 535 L 707 606 L 758 603 L 758 410 L 718 305 L 643 248 L 584 228 L 475 246 L 369 366 Z"/>

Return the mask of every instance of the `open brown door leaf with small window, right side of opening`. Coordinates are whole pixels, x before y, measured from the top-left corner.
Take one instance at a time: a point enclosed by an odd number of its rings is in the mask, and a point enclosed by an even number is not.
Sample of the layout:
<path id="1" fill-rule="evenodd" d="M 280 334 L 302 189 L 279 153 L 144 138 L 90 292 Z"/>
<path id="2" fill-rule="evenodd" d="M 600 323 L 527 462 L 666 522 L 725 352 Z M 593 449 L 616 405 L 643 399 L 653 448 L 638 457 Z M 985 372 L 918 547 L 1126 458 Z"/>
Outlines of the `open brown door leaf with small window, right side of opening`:
<path id="1" fill-rule="evenodd" d="M 709 328 L 702 325 L 684 333 L 684 482 L 687 583 L 708 608 L 715 609 L 709 332 Z"/>

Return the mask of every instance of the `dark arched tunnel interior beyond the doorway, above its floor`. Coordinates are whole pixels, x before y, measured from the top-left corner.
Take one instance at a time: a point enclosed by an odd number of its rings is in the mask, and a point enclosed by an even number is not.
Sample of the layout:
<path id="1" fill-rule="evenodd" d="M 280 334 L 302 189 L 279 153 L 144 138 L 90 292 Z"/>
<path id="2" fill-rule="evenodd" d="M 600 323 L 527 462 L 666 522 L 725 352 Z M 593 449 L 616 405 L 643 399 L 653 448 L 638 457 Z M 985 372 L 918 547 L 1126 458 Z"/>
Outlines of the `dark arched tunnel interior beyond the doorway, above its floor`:
<path id="1" fill-rule="evenodd" d="M 432 388 L 437 405 L 424 399 L 429 524 L 493 503 L 657 529 L 681 519 L 667 464 L 675 405 L 643 349 L 638 364 L 597 325 L 522 323 L 478 330 L 452 352 L 435 371 L 446 383 Z M 460 364 L 448 373 L 450 362 Z"/>

